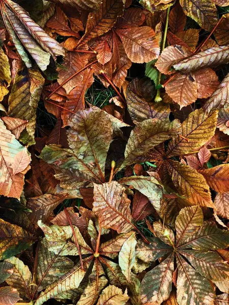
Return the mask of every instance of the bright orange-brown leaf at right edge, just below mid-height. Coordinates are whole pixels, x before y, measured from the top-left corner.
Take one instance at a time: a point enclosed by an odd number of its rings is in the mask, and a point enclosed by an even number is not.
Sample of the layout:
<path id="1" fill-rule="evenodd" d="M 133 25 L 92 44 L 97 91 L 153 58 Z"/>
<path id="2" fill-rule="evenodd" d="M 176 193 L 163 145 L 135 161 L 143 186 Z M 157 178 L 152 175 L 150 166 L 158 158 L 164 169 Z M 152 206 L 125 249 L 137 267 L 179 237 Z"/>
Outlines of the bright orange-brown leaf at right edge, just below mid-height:
<path id="1" fill-rule="evenodd" d="M 199 172 L 205 177 L 210 188 L 216 192 L 229 191 L 229 164 L 221 164 Z"/>

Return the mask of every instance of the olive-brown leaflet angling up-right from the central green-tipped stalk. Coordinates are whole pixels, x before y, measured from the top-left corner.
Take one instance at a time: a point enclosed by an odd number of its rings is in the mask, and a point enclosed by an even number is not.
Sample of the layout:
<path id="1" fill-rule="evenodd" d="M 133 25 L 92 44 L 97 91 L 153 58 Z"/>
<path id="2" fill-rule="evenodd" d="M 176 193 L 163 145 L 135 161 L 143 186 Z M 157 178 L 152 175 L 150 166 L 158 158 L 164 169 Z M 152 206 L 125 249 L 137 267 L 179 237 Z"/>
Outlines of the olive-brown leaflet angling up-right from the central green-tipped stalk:
<path id="1" fill-rule="evenodd" d="M 148 154 L 154 146 L 177 135 L 180 128 L 178 120 L 170 122 L 168 118 L 150 118 L 140 122 L 130 134 L 125 159 L 119 169 L 136 162 L 149 160 Z"/>

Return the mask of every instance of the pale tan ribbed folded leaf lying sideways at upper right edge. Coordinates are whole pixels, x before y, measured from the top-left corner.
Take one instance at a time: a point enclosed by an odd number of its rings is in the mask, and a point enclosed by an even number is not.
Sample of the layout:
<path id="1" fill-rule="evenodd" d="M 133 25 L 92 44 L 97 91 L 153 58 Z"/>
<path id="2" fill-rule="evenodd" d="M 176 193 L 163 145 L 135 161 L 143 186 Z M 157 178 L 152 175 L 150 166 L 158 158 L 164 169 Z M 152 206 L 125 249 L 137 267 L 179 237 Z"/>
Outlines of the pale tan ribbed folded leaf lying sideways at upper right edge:
<path id="1" fill-rule="evenodd" d="M 212 47 L 202 52 L 181 60 L 178 64 L 172 64 L 176 70 L 183 73 L 199 70 L 207 67 L 217 67 L 229 62 L 229 45 Z"/>

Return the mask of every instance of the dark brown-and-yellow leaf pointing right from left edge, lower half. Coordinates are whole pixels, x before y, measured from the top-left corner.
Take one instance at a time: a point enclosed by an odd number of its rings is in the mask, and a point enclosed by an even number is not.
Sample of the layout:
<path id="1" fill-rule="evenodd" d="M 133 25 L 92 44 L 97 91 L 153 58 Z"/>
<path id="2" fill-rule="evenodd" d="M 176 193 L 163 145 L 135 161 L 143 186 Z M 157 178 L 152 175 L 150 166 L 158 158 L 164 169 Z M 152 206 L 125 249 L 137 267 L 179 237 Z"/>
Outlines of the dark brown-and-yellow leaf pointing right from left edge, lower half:
<path id="1" fill-rule="evenodd" d="M 31 232 L 22 229 L 17 225 L 10 224 L 0 219 L 1 241 L 0 259 L 6 259 L 16 255 L 30 247 L 37 237 Z"/>

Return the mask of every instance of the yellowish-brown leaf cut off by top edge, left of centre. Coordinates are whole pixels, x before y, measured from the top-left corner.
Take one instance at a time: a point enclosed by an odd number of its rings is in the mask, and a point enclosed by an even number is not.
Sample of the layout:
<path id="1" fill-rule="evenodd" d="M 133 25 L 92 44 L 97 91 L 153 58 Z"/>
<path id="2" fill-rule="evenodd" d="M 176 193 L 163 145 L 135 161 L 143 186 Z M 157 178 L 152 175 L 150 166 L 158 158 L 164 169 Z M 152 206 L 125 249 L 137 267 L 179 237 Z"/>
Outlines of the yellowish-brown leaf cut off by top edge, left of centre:
<path id="1" fill-rule="evenodd" d="M 98 10 L 99 4 L 101 2 L 101 0 L 48 0 L 48 1 L 85 11 Z"/>

